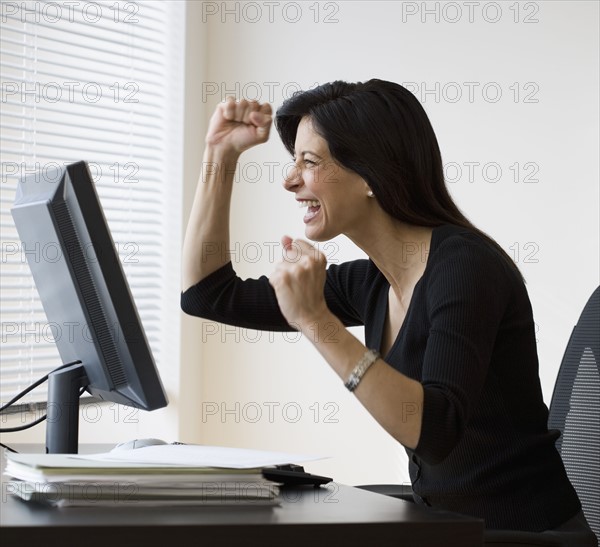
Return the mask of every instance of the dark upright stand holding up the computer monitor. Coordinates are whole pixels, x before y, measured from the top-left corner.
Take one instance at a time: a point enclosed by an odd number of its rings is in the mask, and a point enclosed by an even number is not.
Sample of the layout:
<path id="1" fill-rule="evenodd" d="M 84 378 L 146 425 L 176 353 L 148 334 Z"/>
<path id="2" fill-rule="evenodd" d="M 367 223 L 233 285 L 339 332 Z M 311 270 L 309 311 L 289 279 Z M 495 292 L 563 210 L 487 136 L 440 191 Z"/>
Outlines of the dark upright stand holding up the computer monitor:
<path id="1" fill-rule="evenodd" d="M 46 454 L 77 454 L 79 397 L 88 384 L 82 363 L 48 376 Z"/>

